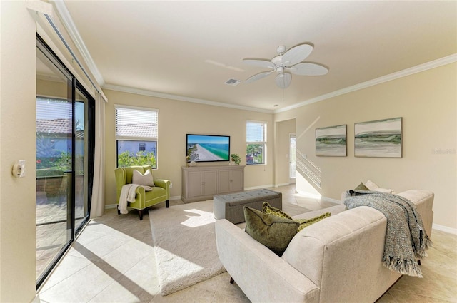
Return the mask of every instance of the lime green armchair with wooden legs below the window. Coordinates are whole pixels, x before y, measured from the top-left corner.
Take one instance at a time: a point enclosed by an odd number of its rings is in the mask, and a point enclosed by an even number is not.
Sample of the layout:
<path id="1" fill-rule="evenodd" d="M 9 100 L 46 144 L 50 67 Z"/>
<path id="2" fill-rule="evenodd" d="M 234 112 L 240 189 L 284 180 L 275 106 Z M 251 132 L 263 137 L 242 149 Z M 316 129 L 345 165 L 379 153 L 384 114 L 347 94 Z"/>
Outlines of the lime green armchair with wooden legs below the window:
<path id="1" fill-rule="evenodd" d="M 116 177 L 116 193 L 117 193 L 117 213 L 119 211 L 119 197 L 121 196 L 122 187 L 126 184 L 131 184 L 131 178 L 134 174 L 134 170 L 138 170 L 141 174 L 144 174 L 146 170 L 151 169 L 150 165 L 146 166 L 128 166 L 126 168 L 116 168 L 114 175 Z M 152 172 L 152 170 L 151 170 Z M 129 202 L 128 206 L 139 210 L 140 220 L 143 220 L 143 210 L 156 205 L 161 202 L 165 202 L 166 208 L 169 207 L 170 200 L 170 180 L 155 180 L 154 187 L 151 191 L 146 192 L 143 187 L 136 188 L 135 202 Z"/>

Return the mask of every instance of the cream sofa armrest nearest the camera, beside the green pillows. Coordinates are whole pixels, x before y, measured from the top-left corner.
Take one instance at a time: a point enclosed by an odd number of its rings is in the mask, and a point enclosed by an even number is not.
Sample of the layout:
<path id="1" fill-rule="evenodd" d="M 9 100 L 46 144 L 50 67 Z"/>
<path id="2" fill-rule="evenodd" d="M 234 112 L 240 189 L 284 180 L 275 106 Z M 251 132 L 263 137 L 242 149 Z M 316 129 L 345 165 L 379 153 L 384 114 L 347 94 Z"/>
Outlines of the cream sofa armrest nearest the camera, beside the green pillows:
<path id="1" fill-rule="evenodd" d="M 316 284 L 226 219 L 216 221 L 216 245 L 222 264 L 251 302 L 318 302 Z"/>

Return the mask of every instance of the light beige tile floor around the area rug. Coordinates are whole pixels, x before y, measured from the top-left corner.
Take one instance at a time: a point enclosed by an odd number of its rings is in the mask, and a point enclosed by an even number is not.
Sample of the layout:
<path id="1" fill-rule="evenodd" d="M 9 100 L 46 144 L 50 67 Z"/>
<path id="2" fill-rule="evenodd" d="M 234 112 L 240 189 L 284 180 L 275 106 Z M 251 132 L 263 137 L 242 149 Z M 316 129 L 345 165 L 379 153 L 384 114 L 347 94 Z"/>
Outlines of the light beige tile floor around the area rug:
<path id="1" fill-rule="evenodd" d="M 283 202 L 309 210 L 334 205 L 294 192 L 294 186 L 272 188 Z M 170 201 L 171 205 L 181 204 Z M 286 210 L 286 204 L 284 209 Z M 156 206 L 164 207 L 164 205 Z M 296 208 L 295 208 L 296 209 Z M 433 230 L 434 246 L 422 262 L 424 278 L 401 277 L 377 303 L 457 302 L 457 235 Z M 249 302 L 224 273 L 162 297 L 149 217 L 118 217 L 116 210 L 89 222 L 69 252 L 39 289 L 39 302 Z"/>

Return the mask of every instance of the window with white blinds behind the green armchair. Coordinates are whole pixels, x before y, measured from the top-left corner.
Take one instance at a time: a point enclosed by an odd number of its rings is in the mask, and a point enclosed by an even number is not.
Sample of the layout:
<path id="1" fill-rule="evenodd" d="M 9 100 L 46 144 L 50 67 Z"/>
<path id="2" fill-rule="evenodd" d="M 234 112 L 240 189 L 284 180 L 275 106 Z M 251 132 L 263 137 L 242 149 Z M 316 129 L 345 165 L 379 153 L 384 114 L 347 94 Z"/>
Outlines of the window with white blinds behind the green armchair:
<path id="1" fill-rule="evenodd" d="M 157 168 L 156 109 L 116 106 L 117 167 L 151 165 Z"/>

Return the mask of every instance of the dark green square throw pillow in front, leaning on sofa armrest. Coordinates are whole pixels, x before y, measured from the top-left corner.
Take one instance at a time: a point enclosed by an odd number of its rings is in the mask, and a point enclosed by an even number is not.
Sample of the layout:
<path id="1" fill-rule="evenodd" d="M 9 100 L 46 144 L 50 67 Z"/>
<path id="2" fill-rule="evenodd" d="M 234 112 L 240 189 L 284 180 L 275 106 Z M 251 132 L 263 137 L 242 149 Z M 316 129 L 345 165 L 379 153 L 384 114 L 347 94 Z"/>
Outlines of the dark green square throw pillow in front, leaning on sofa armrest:
<path id="1" fill-rule="evenodd" d="M 281 257 L 298 230 L 298 222 L 244 207 L 246 232 Z"/>

